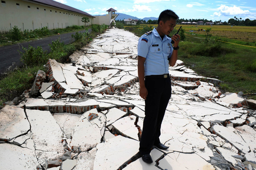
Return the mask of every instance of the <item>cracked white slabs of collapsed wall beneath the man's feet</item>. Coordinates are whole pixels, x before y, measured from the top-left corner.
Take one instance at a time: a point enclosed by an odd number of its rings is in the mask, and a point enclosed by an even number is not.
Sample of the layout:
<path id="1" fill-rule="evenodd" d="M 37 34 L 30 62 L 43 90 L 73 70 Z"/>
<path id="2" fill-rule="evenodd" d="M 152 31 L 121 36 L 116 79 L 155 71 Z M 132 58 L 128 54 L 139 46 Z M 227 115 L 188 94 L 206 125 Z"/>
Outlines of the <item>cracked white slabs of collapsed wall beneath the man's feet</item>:
<path id="1" fill-rule="evenodd" d="M 138 37 L 109 29 L 70 56 L 49 60 L 25 100 L 0 110 L 0 169 L 256 169 L 255 101 L 222 94 L 217 79 L 177 61 L 153 164 L 138 149 Z M 32 98 L 34 97 L 34 98 Z"/>

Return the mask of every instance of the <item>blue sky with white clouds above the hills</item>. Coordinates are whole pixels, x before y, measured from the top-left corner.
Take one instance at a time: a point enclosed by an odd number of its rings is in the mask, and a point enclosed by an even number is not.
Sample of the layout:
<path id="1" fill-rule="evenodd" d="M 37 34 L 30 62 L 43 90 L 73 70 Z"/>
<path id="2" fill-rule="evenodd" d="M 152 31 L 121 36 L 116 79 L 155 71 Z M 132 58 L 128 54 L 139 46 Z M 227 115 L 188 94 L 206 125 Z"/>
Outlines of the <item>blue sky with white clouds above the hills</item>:
<path id="1" fill-rule="evenodd" d="M 106 10 L 114 8 L 117 13 L 145 17 L 158 18 L 163 10 L 173 10 L 179 18 L 184 19 L 207 19 L 212 21 L 228 21 L 230 18 L 249 18 L 256 20 L 255 0 L 55 0 L 85 11 L 91 15 L 107 14 Z"/>

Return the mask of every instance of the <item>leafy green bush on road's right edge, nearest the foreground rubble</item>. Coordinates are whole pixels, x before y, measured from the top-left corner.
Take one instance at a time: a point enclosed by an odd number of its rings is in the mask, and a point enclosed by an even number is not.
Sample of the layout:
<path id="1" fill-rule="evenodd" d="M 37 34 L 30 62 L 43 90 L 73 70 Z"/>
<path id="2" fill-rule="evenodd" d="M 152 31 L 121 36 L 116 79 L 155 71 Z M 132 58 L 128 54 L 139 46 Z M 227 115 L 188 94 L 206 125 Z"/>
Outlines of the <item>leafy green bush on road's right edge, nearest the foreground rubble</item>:
<path id="1" fill-rule="evenodd" d="M 42 47 L 34 48 L 28 46 L 28 49 L 22 47 L 24 52 L 19 52 L 21 54 L 21 61 L 27 66 L 37 66 L 43 65 L 47 62 L 46 50 L 44 51 Z"/>

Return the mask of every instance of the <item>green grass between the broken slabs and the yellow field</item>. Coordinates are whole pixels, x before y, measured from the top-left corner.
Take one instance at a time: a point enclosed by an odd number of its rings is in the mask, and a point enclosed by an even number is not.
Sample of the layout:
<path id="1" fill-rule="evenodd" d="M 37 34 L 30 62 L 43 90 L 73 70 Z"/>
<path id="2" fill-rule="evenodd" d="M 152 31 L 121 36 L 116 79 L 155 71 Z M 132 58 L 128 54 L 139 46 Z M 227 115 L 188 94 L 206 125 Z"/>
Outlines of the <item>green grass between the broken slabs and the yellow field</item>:
<path id="1" fill-rule="evenodd" d="M 220 46 L 222 49 L 216 55 L 197 55 L 191 53 L 199 53 L 209 47 L 203 43 L 184 41 L 180 43 L 179 59 L 190 67 L 193 65 L 191 69 L 200 75 L 217 77 L 222 81 L 220 87 L 224 92 L 255 93 L 256 71 L 249 68 L 256 60 L 256 49 L 226 43 L 220 43 Z"/>

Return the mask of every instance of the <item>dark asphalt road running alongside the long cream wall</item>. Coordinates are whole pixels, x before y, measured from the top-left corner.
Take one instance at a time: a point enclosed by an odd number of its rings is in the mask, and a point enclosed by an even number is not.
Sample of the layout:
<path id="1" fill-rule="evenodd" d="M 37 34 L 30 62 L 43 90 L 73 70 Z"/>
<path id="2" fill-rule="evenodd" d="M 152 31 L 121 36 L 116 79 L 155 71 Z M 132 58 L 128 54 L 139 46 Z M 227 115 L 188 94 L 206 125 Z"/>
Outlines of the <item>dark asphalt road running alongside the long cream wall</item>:
<path id="1" fill-rule="evenodd" d="M 60 41 L 65 44 L 73 43 L 75 39 L 72 39 L 71 35 L 75 35 L 76 32 L 77 31 L 33 40 L 26 43 L 19 43 L 11 46 L 0 47 L 0 76 L 3 73 L 12 70 L 17 66 L 19 67 L 23 65 L 23 63 L 20 62 L 21 56 L 19 53 L 19 51 L 24 52 L 22 47 L 28 48 L 28 46 L 30 45 L 36 48 L 37 46 L 41 46 L 43 50 L 47 50 L 47 52 L 50 52 L 49 44 L 51 44 L 52 41 L 60 38 Z M 85 32 L 85 30 L 79 32 Z M 89 32 L 91 32 L 91 29 L 89 29 Z"/>

